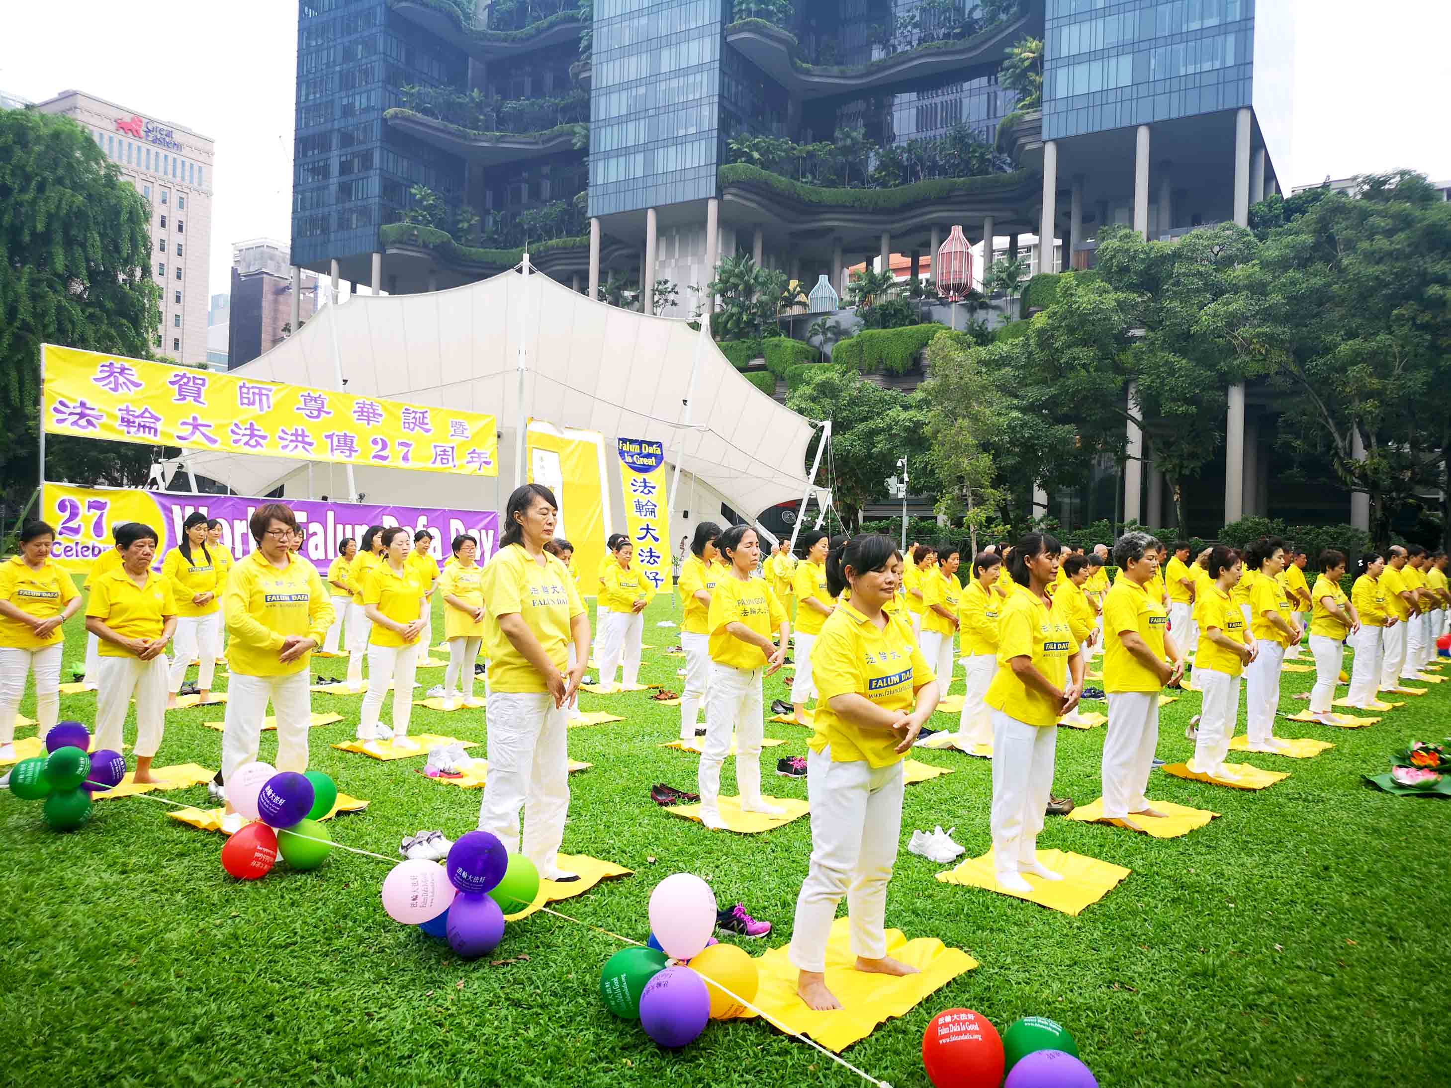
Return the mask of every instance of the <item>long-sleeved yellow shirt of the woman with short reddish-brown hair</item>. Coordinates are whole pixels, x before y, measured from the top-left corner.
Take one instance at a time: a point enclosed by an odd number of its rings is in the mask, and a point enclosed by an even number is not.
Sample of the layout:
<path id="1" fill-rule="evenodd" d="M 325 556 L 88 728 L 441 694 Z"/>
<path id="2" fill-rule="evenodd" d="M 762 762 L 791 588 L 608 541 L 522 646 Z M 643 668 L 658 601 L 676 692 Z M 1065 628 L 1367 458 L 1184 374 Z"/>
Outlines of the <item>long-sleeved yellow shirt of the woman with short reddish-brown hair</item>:
<path id="1" fill-rule="evenodd" d="M 292 676 L 308 669 L 312 653 L 295 662 L 277 660 L 287 635 L 309 635 L 321 647 L 335 612 L 318 569 L 308 560 L 292 556 L 279 570 L 254 551 L 232 569 L 222 615 L 231 635 L 226 667 L 234 675 Z"/>

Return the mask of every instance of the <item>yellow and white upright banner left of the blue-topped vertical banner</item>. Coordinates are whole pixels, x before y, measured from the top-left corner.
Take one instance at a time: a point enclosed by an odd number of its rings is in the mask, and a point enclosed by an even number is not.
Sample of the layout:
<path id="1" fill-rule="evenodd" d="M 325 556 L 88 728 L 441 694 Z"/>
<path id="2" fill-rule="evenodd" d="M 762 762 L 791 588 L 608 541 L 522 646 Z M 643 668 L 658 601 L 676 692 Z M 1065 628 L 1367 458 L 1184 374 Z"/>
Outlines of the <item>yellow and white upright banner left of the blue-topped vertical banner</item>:
<path id="1" fill-rule="evenodd" d="M 605 476 L 605 437 L 598 431 L 554 426 L 530 419 L 528 480 L 543 483 L 559 499 L 556 537 L 575 545 L 575 576 L 579 592 L 599 590 L 599 564 L 609 537 L 609 492 Z"/>

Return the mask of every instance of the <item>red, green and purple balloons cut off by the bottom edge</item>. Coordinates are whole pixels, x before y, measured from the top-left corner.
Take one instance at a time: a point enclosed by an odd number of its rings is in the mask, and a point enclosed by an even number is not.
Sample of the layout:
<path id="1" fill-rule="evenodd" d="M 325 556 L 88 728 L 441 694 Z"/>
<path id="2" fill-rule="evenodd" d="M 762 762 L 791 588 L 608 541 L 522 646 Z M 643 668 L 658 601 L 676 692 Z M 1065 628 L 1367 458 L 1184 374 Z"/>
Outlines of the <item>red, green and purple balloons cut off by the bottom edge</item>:
<path id="1" fill-rule="evenodd" d="M 987 1017 L 971 1008 L 948 1008 L 927 1024 L 921 1062 L 936 1088 L 1098 1085 L 1078 1060 L 1078 1044 L 1068 1029 L 1048 1017 L 1023 1017 L 1000 1036 Z"/>

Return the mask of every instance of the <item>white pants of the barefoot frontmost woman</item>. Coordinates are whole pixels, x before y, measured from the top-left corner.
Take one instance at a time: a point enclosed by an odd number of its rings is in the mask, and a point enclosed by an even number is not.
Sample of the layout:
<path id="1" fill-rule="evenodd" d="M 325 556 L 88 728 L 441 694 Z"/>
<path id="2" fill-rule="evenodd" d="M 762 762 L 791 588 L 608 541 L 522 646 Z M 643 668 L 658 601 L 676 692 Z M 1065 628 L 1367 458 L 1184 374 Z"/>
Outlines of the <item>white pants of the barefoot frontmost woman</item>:
<path id="1" fill-rule="evenodd" d="M 831 749 L 807 753 L 811 869 L 797 895 L 788 956 L 800 970 L 826 970 L 826 943 L 846 897 L 852 952 L 887 955 L 887 882 L 903 830 L 903 763 L 836 763 Z"/>

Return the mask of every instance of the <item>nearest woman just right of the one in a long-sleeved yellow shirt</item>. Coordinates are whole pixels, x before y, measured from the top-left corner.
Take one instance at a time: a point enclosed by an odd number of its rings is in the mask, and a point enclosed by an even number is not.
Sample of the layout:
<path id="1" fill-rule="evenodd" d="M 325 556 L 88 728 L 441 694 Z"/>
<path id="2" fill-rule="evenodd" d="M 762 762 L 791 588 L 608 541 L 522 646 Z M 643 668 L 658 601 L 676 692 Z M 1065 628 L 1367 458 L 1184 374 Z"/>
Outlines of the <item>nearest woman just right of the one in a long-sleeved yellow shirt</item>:
<path id="1" fill-rule="evenodd" d="M 408 567 L 408 529 L 393 525 L 379 534 L 383 561 L 369 570 L 363 582 L 363 611 L 373 621 L 367 646 L 367 695 L 358 715 L 358 740 L 369 751 L 380 751 L 379 741 L 393 738 L 395 749 L 414 751 L 416 740 L 408 738 L 414 712 L 414 676 L 418 651 L 424 646 L 424 586 L 419 574 Z M 387 682 L 393 682 L 393 728 L 379 725 Z"/>

